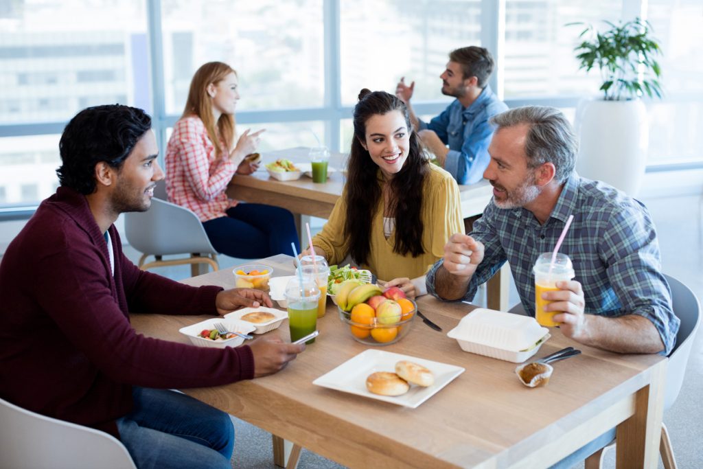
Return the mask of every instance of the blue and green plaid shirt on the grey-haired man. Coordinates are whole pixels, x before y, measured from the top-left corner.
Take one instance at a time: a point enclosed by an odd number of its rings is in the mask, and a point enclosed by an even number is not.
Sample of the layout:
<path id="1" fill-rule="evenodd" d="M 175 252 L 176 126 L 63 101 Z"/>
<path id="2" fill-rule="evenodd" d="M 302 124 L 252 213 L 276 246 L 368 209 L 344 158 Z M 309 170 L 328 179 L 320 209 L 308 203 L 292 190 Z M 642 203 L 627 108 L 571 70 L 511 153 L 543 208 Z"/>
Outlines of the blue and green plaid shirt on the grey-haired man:
<path id="1" fill-rule="evenodd" d="M 464 299 L 472 300 L 478 285 L 507 260 L 522 307 L 534 316 L 532 266 L 541 253 L 553 251 L 569 214 L 574 215 L 574 221 L 560 252 L 572 259 L 586 313 L 644 316 L 654 323 L 664 342 L 663 353 L 669 354 L 679 320 L 671 309 L 671 293 L 661 273 L 657 233 L 649 212 L 617 189 L 575 173 L 543 225 L 529 210 L 504 210 L 491 201 L 471 233 L 484 244 L 485 253 Z M 434 296 L 434 276 L 442 262 L 436 262 L 427 274 L 427 291 Z"/>

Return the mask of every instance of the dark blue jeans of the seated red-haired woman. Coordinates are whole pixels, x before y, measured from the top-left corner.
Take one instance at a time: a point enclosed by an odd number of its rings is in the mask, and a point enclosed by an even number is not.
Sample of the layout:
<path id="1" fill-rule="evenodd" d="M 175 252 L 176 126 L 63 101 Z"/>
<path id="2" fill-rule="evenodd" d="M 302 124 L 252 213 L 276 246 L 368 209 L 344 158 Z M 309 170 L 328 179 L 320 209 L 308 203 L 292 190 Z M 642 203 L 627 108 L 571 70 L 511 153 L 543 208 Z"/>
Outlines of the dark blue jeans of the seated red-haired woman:
<path id="1" fill-rule="evenodd" d="M 300 251 L 295 221 L 288 210 L 240 202 L 226 213 L 226 217 L 202 223 L 217 252 L 243 259 L 293 255 L 290 243 Z"/>

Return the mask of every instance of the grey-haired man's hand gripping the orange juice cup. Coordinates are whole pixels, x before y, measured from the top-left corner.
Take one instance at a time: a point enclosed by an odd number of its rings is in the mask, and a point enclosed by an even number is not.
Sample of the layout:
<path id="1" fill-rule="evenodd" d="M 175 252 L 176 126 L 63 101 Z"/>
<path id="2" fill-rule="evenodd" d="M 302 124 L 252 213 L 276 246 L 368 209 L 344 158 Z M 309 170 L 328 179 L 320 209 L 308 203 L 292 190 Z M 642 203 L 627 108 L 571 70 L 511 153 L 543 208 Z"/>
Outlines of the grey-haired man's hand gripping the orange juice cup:
<path id="1" fill-rule="evenodd" d="M 554 322 L 560 323 L 559 328 L 564 335 L 578 342 L 583 342 L 588 334 L 586 315 L 586 299 L 583 297 L 581 283 L 575 280 L 555 283 L 559 290 L 542 293 L 543 300 L 550 301 L 545 311 L 559 311 L 554 315 Z"/>

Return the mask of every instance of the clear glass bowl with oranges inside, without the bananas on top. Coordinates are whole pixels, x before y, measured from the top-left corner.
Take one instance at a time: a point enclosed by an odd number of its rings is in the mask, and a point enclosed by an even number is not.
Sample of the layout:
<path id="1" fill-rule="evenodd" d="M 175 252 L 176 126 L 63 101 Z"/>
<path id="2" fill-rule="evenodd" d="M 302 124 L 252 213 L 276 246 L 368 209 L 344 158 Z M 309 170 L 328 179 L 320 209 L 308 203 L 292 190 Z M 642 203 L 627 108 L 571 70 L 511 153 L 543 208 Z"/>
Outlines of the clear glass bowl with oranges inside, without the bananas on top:
<path id="1" fill-rule="evenodd" d="M 343 311 L 337 306 L 340 312 L 340 320 L 349 331 L 349 335 L 365 345 L 391 345 L 404 338 L 413 327 L 415 312 L 418 305 L 409 298 L 403 298 L 398 304 L 401 308 L 397 314 L 395 307 L 373 308 L 370 304 L 357 304 L 352 311 Z"/>

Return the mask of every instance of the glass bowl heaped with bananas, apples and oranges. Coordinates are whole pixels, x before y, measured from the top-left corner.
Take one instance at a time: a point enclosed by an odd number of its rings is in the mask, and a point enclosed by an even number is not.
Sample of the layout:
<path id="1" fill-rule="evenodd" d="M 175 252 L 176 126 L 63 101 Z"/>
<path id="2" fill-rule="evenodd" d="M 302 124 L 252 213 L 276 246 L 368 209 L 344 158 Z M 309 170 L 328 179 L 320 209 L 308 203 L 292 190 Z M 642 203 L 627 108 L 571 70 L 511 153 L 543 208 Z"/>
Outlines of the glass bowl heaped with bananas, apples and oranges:
<path id="1" fill-rule="evenodd" d="M 337 293 L 337 309 L 354 340 L 365 345 L 390 345 L 410 332 L 418 307 L 403 290 L 347 282 Z"/>

